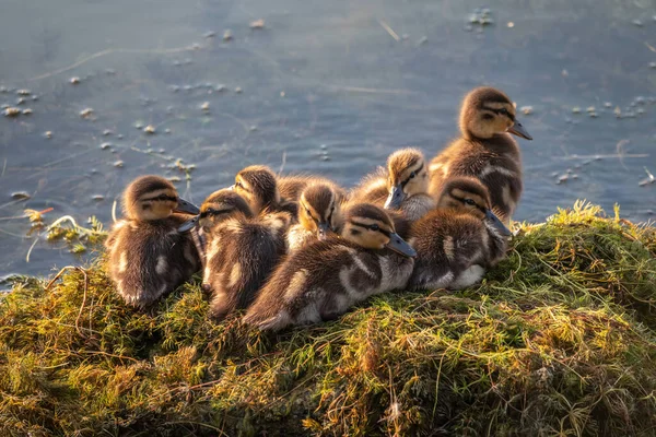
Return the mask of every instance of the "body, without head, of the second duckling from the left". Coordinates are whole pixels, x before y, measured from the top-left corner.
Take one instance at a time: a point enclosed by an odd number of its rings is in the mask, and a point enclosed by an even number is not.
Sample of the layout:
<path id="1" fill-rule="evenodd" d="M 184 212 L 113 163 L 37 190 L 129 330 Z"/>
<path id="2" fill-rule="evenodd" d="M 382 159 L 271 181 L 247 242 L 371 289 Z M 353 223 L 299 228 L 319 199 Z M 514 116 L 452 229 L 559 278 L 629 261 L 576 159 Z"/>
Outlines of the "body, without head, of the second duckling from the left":
<path id="1" fill-rule="evenodd" d="M 290 215 L 230 220 L 206 234 L 203 286 L 211 293 L 210 315 L 223 319 L 246 308 L 285 252 Z"/>

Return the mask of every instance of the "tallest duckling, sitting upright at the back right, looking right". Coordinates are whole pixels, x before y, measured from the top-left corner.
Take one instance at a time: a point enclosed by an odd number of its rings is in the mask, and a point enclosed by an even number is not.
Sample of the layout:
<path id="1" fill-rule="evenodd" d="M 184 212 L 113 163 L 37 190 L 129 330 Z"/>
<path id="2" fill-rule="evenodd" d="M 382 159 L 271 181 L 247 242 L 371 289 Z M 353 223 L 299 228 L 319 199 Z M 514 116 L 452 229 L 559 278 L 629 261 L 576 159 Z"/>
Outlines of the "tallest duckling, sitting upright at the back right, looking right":
<path id="1" fill-rule="evenodd" d="M 515 117 L 509 97 L 489 86 L 465 97 L 460 131 L 461 137 L 431 161 L 431 194 L 440 196 L 450 177 L 479 178 L 490 191 L 495 213 L 509 223 L 523 190 L 522 156 L 511 133 L 532 138 Z"/>

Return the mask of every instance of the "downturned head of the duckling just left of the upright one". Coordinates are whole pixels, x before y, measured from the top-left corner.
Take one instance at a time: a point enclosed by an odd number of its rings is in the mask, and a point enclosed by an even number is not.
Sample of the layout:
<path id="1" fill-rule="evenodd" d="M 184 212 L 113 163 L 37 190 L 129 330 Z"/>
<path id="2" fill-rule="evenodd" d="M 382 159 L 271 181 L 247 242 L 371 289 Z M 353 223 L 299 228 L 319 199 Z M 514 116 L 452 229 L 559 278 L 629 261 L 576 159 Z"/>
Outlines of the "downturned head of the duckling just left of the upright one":
<path id="1" fill-rule="evenodd" d="M 429 169 L 418 149 L 401 149 L 389 155 L 387 173 L 387 210 L 396 210 L 407 198 L 429 191 Z"/>

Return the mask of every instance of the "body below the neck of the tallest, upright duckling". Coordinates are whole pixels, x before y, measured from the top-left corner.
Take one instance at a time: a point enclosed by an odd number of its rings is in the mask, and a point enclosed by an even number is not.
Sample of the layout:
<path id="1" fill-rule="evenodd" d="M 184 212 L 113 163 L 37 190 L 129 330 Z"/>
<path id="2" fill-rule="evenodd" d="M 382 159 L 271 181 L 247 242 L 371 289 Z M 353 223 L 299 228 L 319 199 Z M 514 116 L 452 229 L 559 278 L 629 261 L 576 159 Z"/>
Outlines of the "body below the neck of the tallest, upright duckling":
<path id="1" fill-rule="evenodd" d="M 485 140 L 458 139 L 435 156 L 429 168 L 433 197 L 440 196 L 448 178 L 476 177 L 490 191 L 493 211 L 506 223 L 522 196 L 522 156 L 507 133 Z"/>

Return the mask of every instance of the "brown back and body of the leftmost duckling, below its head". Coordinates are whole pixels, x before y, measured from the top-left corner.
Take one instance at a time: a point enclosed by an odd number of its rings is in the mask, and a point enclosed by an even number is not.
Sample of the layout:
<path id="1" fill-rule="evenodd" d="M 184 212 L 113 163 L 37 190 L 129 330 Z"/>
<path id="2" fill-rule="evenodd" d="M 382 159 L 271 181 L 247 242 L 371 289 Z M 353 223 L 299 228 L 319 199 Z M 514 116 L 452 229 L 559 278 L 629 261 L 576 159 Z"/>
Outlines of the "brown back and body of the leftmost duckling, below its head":
<path id="1" fill-rule="evenodd" d="M 126 303 L 147 308 L 200 267 L 192 240 L 177 232 L 185 217 L 152 222 L 121 220 L 106 243 L 108 271 Z"/>

